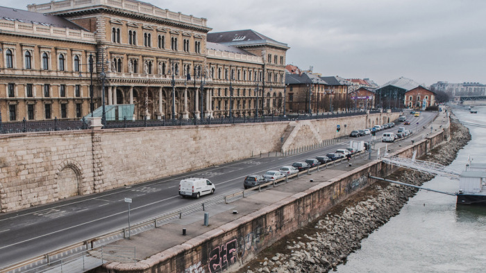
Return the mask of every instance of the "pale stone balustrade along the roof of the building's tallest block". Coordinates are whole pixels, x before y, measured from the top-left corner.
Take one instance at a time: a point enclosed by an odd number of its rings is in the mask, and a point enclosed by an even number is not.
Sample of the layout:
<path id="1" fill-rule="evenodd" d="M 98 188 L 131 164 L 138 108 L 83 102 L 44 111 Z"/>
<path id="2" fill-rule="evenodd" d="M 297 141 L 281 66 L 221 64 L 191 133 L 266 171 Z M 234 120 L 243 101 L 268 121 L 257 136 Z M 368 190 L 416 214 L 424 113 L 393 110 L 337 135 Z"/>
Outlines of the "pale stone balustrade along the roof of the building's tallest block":
<path id="1" fill-rule="evenodd" d="M 171 19 L 174 21 L 181 21 L 187 24 L 193 24 L 196 26 L 206 27 L 206 18 L 198 18 L 192 15 L 183 15 L 181 12 L 172 12 L 170 10 L 163 10 L 156 6 L 149 5 L 147 3 L 134 3 L 125 0 L 65 0 L 65 1 L 51 1 L 49 3 L 43 3 L 40 5 L 32 4 L 28 5 L 28 11 L 49 13 L 59 12 L 63 10 L 72 10 L 74 8 L 92 8 L 93 6 L 108 6 L 112 8 L 122 8 L 124 10 L 130 10 L 140 12 L 144 15 L 152 15 L 156 17 L 162 17 L 165 19 Z"/>

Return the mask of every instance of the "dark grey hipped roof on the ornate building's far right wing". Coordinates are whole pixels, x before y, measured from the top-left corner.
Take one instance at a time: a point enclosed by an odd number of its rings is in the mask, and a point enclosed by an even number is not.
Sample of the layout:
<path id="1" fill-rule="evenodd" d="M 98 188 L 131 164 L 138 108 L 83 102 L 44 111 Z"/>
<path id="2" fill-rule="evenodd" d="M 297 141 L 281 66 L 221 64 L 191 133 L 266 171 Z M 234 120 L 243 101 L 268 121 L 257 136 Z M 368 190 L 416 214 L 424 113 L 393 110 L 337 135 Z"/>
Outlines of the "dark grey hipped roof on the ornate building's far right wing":
<path id="1" fill-rule="evenodd" d="M 281 46 L 288 48 L 287 44 L 277 42 L 265 35 L 262 35 L 255 30 L 233 30 L 220 33 L 208 33 L 208 42 L 218 44 L 231 44 L 231 45 L 250 45 L 250 44 L 273 44 L 275 46 Z"/>

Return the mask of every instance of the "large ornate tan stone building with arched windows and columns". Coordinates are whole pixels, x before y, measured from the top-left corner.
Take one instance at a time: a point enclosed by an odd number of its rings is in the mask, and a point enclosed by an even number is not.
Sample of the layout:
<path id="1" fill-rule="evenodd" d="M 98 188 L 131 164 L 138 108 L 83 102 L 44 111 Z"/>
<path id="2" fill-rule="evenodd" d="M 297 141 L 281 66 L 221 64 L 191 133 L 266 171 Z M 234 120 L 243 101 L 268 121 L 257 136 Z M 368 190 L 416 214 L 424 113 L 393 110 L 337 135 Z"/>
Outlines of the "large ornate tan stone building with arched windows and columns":
<path id="1" fill-rule="evenodd" d="M 3 121 L 86 116 L 91 76 L 93 109 L 103 93 L 106 105 L 134 105 L 133 117 L 115 118 L 281 112 L 289 48 L 253 30 L 208 34 L 204 18 L 135 0 L 51 1 L 0 12 Z M 210 39 L 219 36 L 225 39 Z M 242 38 L 253 36 L 259 39 Z"/>

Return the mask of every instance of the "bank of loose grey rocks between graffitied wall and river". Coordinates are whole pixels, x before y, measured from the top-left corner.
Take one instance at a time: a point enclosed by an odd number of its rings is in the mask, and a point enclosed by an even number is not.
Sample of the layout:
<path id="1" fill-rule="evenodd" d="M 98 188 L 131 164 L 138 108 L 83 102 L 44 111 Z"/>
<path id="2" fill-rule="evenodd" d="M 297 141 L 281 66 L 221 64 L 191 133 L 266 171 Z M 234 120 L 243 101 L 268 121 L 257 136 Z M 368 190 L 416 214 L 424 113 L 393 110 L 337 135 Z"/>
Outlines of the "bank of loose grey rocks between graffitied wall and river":
<path id="1" fill-rule="evenodd" d="M 453 139 L 421 159 L 449 165 L 458 150 L 471 139 L 469 130 L 451 124 Z M 412 170 L 400 170 L 388 177 L 421 185 L 432 179 Z M 262 252 L 256 261 L 240 272 L 328 272 L 360 248 L 360 241 L 400 212 L 417 190 L 376 182 L 363 193 L 330 211 L 312 226 L 286 236 L 280 243 Z"/>

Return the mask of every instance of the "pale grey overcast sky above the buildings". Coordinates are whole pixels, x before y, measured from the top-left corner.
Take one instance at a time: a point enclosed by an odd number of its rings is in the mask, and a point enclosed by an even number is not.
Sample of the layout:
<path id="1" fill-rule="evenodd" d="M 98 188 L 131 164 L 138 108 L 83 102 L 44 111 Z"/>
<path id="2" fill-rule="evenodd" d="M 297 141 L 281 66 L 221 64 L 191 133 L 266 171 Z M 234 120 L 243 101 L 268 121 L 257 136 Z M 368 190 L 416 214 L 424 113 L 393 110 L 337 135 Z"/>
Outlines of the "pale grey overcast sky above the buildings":
<path id="1" fill-rule="evenodd" d="M 26 9 L 48 0 L 1 0 Z M 401 76 L 486 84 L 486 0 L 146 0 L 208 19 L 212 31 L 251 28 L 290 46 L 287 64 L 323 76 Z"/>

